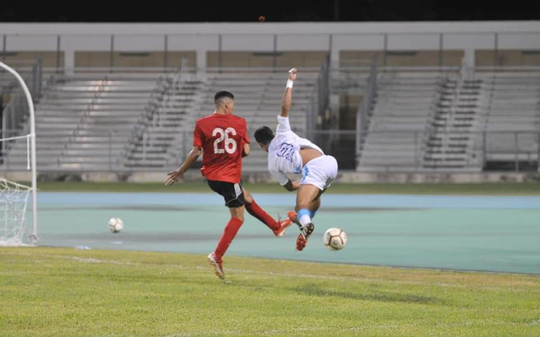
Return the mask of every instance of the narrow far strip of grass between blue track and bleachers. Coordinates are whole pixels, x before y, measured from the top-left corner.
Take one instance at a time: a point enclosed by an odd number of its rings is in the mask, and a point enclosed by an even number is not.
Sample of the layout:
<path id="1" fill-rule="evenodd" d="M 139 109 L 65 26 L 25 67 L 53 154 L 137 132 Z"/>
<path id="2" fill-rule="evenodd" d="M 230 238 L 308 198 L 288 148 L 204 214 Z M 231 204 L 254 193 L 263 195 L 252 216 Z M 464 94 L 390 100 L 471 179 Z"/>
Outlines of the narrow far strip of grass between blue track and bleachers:
<path id="1" fill-rule="evenodd" d="M 254 193 L 286 193 L 279 184 L 245 183 Z M 173 187 L 159 183 L 38 182 L 43 192 L 212 192 L 205 182 L 183 182 Z M 343 194 L 451 194 L 451 195 L 540 195 L 540 183 L 482 184 L 338 184 L 326 193 Z"/>

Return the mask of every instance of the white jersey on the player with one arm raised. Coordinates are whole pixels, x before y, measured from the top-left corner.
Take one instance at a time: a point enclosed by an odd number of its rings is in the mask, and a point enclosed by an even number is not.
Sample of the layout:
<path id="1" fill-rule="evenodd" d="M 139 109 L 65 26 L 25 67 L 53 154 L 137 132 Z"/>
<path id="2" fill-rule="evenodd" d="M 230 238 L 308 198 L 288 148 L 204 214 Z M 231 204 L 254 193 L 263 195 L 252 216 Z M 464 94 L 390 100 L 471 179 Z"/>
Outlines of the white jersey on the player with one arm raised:
<path id="1" fill-rule="evenodd" d="M 288 182 L 287 173 L 302 172 L 302 148 L 313 148 L 324 155 L 317 145 L 293 133 L 288 117 L 278 116 L 276 136 L 268 147 L 268 170 L 282 186 Z"/>

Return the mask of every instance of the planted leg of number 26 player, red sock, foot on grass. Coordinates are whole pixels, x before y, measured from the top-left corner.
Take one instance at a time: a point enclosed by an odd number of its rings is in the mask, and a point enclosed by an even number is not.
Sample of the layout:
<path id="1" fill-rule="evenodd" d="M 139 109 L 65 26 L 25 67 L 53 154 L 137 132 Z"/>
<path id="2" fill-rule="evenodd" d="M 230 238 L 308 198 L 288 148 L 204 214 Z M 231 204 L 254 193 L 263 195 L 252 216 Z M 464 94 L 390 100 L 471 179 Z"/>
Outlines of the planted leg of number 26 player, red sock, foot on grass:
<path id="1" fill-rule="evenodd" d="M 244 223 L 244 206 L 230 207 L 229 211 L 231 213 L 231 219 L 227 223 L 227 226 L 225 226 L 214 252 L 208 255 L 208 261 L 214 266 L 215 275 L 220 277 L 220 279 L 225 278 L 225 272 L 223 272 L 222 266 L 223 255 L 227 252 L 229 245 L 231 245 L 232 240 L 237 235 L 240 227 L 242 227 L 242 223 Z"/>

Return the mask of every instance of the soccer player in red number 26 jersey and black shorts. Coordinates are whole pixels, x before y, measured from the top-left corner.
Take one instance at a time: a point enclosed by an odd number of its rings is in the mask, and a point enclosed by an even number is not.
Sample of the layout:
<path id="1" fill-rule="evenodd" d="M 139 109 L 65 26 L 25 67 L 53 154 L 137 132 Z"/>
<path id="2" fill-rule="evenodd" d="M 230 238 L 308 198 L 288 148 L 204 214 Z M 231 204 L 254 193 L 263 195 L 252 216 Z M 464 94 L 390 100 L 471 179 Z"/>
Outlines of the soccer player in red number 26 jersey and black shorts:
<path id="1" fill-rule="evenodd" d="M 185 171 L 202 153 L 200 171 L 212 191 L 222 195 L 229 207 L 231 219 L 208 260 L 220 279 L 225 278 L 222 257 L 244 223 L 244 207 L 248 213 L 268 226 L 276 236 L 283 236 L 291 220 L 275 221 L 242 187 L 242 158 L 249 155 L 249 136 L 246 120 L 234 116 L 234 96 L 230 92 L 217 92 L 214 96 L 215 112 L 199 118 L 193 132 L 193 150 L 178 170 L 168 173 L 165 184 L 170 186 L 182 178 Z M 204 151 L 204 152 L 203 152 Z"/>

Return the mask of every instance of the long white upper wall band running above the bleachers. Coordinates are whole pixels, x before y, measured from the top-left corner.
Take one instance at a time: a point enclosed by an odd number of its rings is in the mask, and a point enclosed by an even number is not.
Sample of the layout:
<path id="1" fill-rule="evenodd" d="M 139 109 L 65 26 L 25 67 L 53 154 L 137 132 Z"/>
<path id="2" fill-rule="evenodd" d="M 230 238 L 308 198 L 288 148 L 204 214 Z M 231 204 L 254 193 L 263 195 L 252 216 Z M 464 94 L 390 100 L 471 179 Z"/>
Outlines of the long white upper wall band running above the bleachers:
<path id="1" fill-rule="evenodd" d="M 3 36 L 6 44 L 4 45 Z M 195 50 L 199 67 L 206 52 L 219 50 L 464 50 L 474 65 L 477 49 L 540 50 L 540 21 L 422 22 L 422 23 L 0 23 L 0 48 L 6 51 L 58 48 L 66 67 L 76 50 Z"/>

